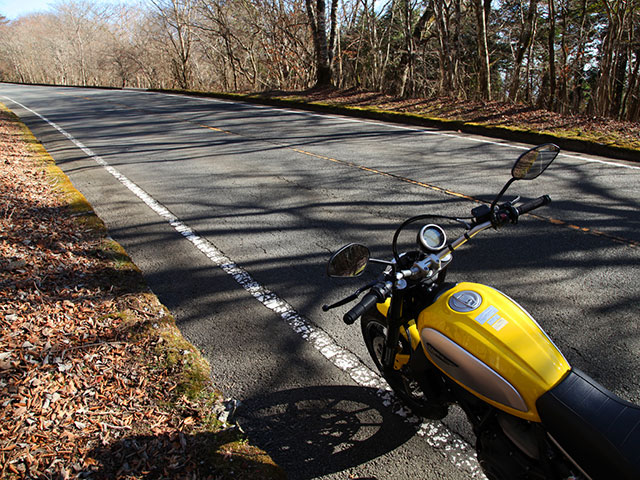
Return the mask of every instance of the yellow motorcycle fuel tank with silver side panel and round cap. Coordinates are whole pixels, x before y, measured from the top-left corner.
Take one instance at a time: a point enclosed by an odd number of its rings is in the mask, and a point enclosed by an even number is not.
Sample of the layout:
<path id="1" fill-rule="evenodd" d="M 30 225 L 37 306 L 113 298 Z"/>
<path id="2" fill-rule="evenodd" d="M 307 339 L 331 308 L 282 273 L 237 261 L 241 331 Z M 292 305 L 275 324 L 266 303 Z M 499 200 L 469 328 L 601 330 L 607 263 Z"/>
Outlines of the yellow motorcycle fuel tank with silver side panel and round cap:
<path id="1" fill-rule="evenodd" d="M 447 376 L 512 415 L 540 421 L 536 400 L 570 366 L 526 310 L 501 292 L 459 283 L 418 316 L 423 349 Z"/>

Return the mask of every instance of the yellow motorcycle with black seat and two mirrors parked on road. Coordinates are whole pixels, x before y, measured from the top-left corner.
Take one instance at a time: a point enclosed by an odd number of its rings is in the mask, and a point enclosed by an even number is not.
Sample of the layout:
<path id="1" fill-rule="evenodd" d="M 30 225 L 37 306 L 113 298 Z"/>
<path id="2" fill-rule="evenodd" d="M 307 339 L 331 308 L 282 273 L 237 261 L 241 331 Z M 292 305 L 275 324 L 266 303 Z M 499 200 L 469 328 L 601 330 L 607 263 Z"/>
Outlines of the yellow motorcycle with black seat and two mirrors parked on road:
<path id="1" fill-rule="evenodd" d="M 324 311 L 368 291 L 343 317 L 361 319 L 371 357 L 397 397 L 425 418 L 444 418 L 457 403 L 476 436 L 490 480 L 640 479 L 640 407 L 572 368 L 526 310 L 486 285 L 445 281 L 453 252 L 550 203 L 500 203 L 516 180 L 537 178 L 559 153 L 552 144 L 522 154 L 491 205 L 468 219 L 409 218 L 396 230 L 391 261 L 349 244 L 329 260 L 330 277 L 356 277 L 370 263 L 386 265 L 375 281 Z M 462 224 L 447 241 L 441 223 Z M 416 250 L 398 252 L 400 234 L 420 223 Z"/>

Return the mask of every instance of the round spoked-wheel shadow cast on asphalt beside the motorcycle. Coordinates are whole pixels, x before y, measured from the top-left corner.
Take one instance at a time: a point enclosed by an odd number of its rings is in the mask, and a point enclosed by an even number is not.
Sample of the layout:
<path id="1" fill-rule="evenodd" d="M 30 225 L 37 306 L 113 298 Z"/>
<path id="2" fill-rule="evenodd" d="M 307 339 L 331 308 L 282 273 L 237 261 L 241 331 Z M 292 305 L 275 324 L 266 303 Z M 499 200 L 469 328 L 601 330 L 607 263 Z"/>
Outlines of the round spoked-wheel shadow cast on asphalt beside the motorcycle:
<path id="1" fill-rule="evenodd" d="M 237 423 L 289 479 L 342 472 L 395 450 L 416 428 L 356 386 L 281 390 L 244 400 Z M 358 477 L 363 478 L 363 477 Z"/>

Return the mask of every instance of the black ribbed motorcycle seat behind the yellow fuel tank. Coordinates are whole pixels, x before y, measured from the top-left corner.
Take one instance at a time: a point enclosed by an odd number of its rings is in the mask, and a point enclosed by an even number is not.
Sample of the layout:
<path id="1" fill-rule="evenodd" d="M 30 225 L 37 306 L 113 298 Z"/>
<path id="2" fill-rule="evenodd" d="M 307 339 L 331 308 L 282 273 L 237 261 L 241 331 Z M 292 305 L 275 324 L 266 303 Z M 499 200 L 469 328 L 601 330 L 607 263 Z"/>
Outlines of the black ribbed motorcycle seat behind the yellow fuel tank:
<path id="1" fill-rule="evenodd" d="M 549 434 L 593 480 L 640 479 L 640 407 L 575 369 L 536 406 Z"/>

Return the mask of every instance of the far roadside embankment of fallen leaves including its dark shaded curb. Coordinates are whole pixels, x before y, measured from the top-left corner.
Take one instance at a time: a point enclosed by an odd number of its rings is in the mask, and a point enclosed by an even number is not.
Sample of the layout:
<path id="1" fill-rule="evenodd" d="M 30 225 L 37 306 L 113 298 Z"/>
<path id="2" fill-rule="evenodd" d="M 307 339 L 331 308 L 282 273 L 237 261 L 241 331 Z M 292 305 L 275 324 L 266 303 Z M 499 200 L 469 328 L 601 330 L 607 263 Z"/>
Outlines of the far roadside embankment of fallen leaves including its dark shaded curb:
<path id="1" fill-rule="evenodd" d="M 561 115 L 504 102 L 407 99 L 335 89 L 300 92 L 214 93 L 154 90 L 356 118 L 395 122 L 522 142 L 555 143 L 563 150 L 640 162 L 640 124 L 586 115 Z"/>

